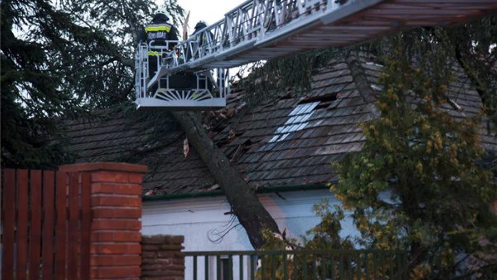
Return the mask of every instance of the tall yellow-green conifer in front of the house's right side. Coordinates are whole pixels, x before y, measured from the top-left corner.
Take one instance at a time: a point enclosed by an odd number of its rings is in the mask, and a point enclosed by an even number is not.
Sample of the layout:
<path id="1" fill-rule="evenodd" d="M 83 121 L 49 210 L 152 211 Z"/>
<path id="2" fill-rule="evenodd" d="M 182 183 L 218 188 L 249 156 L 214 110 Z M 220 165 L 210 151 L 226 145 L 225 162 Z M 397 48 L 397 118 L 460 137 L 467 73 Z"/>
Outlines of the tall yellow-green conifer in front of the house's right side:
<path id="1" fill-rule="evenodd" d="M 363 125 L 362 152 L 335 164 L 331 190 L 353 210 L 362 246 L 407 250 L 413 279 L 457 278 L 471 273 L 473 253 L 496 253 L 481 242 L 497 221 L 492 173 L 476 164 L 480 120 L 456 121 L 440 109 L 451 79 L 442 60 L 423 64 L 399 41 L 392 46 L 379 118 Z"/>

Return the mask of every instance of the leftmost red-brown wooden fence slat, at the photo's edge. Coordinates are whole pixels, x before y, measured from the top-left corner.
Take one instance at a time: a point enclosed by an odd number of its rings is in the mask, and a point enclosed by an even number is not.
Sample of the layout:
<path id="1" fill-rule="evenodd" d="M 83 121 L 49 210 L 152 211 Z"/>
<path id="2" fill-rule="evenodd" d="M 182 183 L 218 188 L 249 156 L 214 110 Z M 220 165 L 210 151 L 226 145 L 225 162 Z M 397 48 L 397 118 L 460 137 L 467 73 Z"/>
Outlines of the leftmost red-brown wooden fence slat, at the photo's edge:
<path id="1" fill-rule="evenodd" d="M 14 277 L 14 217 L 15 217 L 15 170 L 3 172 L 3 240 L 1 279 L 12 280 Z"/>

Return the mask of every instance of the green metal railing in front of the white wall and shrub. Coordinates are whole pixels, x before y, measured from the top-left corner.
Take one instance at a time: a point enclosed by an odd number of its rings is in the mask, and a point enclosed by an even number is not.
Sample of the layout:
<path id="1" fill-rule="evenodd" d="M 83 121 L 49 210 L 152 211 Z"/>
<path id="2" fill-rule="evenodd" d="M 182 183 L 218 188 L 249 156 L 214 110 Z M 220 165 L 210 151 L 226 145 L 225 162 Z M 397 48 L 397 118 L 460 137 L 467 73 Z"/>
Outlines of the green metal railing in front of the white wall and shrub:
<path id="1" fill-rule="evenodd" d="M 185 264 L 187 280 L 408 280 L 401 251 L 185 252 Z"/>

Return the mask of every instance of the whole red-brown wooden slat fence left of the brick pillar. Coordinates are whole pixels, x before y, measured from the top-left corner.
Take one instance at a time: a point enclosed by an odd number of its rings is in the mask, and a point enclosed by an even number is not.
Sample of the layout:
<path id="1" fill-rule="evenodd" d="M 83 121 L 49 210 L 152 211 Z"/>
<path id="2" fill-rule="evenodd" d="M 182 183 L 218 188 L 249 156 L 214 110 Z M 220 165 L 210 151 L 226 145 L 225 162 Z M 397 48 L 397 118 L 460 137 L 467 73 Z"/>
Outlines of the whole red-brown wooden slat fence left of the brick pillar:
<path id="1" fill-rule="evenodd" d="M 89 279 L 90 174 L 2 170 L 1 279 Z"/>

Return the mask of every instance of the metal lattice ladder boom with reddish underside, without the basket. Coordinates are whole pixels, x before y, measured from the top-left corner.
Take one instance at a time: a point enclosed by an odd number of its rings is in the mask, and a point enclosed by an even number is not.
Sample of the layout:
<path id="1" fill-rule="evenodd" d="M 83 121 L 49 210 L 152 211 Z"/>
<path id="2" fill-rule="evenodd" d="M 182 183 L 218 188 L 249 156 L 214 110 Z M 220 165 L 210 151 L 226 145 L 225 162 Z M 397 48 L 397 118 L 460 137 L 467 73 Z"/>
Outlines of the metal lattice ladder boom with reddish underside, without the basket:
<path id="1" fill-rule="evenodd" d="M 176 45 L 187 59 L 167 72 L 230 68 L 331 46 L 349 46 L 401 27 L 444 26 L 497 11 L 497 0 L 247 0 Z M 186 57 L 186 56 L 185 56 Z"/>

